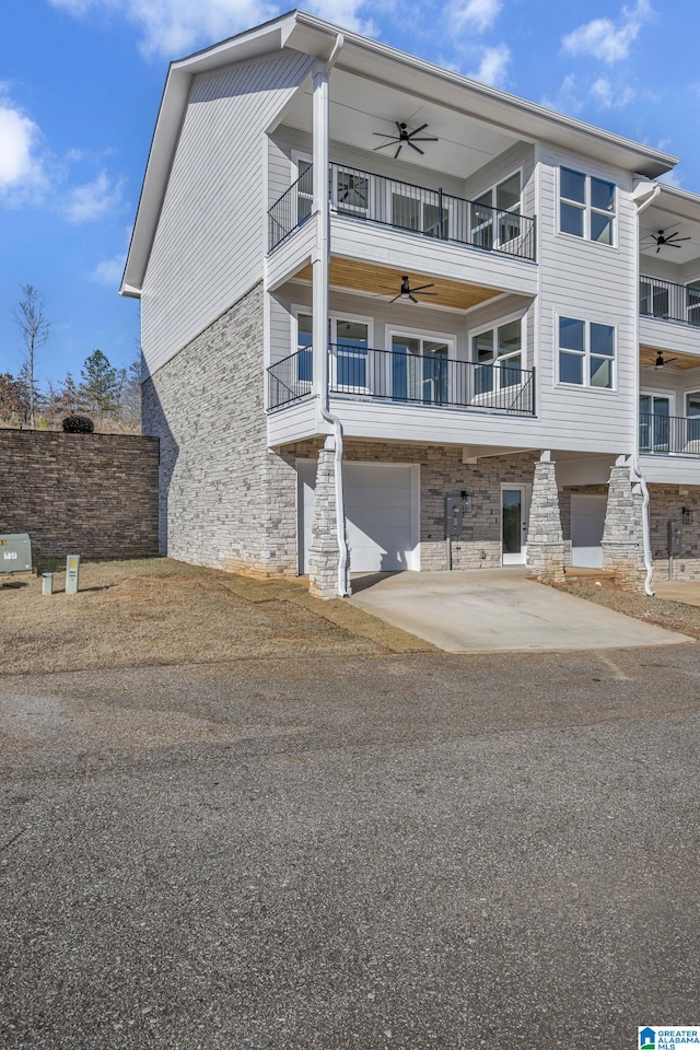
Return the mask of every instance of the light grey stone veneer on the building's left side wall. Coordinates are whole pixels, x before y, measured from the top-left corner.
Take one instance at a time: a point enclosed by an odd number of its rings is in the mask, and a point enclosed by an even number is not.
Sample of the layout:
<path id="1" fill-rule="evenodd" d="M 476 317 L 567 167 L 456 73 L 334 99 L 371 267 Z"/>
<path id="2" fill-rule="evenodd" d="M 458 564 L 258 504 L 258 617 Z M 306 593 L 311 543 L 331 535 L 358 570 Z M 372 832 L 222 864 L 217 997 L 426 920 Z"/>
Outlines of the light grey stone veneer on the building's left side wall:
<path id="1" fill-rule="evenodd" d="M 296 471 L 267 450 L 262 285 L 143 384 L 161 440 L 160 549 L 219 569 L 296 572 Z"/>

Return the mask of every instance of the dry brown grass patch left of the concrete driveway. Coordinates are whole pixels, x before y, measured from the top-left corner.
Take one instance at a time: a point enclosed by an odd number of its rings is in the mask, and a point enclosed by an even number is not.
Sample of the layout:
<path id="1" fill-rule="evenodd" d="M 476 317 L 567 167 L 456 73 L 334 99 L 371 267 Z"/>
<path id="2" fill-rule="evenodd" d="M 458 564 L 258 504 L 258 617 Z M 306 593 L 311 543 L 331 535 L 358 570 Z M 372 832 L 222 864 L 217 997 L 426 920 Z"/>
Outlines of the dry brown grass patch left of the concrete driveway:
<path id="1" fill-rule="evenodd" d="M 292 580 L 253 580 L 167 558 L 84 562 L 79 594 L 63 587 L 63 572 L 55 573 L 50 597 L 40 576 L 0 584 L 2 673 L 433 648 L 340 599 L 313 598 Z"/>

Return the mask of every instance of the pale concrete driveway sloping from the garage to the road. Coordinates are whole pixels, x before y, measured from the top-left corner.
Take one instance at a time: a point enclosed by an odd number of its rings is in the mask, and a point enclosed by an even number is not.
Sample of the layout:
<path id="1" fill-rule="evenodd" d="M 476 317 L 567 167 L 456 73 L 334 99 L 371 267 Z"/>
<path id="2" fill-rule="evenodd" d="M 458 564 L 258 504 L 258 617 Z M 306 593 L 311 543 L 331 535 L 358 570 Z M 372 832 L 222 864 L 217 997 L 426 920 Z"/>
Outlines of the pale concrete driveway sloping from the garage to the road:
<path id="1" fill-rule="evenodd" d="M 448 653 L 673 645 L 690 639 L 525 579 L 524 567 L 359 575 L 353 605 Z"/>

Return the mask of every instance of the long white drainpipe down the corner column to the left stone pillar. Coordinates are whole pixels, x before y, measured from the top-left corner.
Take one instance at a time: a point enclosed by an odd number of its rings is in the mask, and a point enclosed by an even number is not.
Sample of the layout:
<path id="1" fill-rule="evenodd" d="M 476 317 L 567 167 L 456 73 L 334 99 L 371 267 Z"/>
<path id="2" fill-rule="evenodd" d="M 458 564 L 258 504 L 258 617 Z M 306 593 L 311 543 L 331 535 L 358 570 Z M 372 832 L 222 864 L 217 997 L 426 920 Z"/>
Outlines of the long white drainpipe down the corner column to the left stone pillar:
<path id="1" fill-rule="evenodd" d="M 329 74 L 345 44 L 341 33 L 330 57 L 314 72 L 314 210 L 316 212 L 316 250 L 313 262 L 313 346 L 316 404 L 322 421 L 330 423 L 335 439 L 336 528 L 338 538 L 338 594 L 348 595 L 348 545 L 346 509 L 342 498 L 342 425 L 328 408 L 328 260 L 330 258 L 330 213 L 328 202 L 328 105 Z"/>

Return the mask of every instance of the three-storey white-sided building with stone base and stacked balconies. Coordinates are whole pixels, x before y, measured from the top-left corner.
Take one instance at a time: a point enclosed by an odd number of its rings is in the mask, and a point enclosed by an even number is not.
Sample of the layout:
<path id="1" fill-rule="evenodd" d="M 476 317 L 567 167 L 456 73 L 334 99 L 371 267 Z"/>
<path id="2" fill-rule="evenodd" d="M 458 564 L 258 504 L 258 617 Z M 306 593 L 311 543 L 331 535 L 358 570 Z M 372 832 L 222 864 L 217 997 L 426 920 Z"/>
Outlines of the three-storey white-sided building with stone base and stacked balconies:
<path id="1" fill-rule="evenodd" d="M 676 159 L 303 12 L 172 65 L 141 299 L 163 552 L 700 575 L 700 199 Z M 446 542 L 446 537 L 450 542 Z"/>

